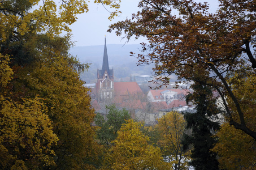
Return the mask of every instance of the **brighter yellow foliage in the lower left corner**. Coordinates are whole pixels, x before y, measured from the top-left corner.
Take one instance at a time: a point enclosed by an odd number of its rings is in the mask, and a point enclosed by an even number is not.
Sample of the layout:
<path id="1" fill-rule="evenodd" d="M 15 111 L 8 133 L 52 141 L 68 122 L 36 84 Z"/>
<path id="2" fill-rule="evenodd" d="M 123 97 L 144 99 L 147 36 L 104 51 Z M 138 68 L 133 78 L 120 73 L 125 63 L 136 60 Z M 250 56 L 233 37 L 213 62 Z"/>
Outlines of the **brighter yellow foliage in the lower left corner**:
<path id="1" fill-rule="evenodd" d="M 34 169 L 54 165 L 51 120 L 39 98 L 13 102 L 0 95 L 0 167 L 1 169 Z M 33 164 L 31 164 L 33 162 Z"/>

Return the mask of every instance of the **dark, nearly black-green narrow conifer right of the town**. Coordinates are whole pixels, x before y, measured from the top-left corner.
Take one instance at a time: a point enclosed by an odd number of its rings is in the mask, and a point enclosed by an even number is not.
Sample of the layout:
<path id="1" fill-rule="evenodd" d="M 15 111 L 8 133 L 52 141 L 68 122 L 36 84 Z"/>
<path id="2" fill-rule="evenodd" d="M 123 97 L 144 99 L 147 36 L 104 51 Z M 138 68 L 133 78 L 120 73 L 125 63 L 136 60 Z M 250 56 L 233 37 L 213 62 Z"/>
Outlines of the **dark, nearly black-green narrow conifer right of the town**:
<path id="1" fill-rule="evenodd" d="M 191 129 L 192 134 L 184 135 L 183 149 L 187 150 L 192 145 L 190 164 L 195 170 L 218 170 L 217 154 L 210 150 L 217 142 L 212 136 L 219 129 L 216 100 L 213 98 L 212 89 L 207 86 L 195 83 L 192 89 L 194 93 L 187 95 L 187 102 L 196 104 L 196 112 L 184 114 L 186 129 Z"/>

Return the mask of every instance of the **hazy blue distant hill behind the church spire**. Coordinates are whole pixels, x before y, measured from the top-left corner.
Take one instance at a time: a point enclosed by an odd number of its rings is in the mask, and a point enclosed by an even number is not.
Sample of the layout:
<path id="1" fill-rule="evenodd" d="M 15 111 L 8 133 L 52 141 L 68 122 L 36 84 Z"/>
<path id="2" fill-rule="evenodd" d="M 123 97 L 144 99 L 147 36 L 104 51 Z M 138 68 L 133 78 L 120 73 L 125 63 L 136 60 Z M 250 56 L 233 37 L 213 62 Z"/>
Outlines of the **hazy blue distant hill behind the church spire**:
<path id="1" fill-rule="evenodd" d="M 130 56 L 130 51 L 139 53 L 139 44 L 107 44 L 109 68 L 114 68 L 116 80 L 125 80 L 130 75 L 152 75 L 152 66 L 137 66 L 138 59 Z M 101 69 L 103 60 L 104 45 L 73 47 L 69 53 L 77 56 L 81 63 L 90 63 L 88 72 L 81 75 L 81 79 L 87 83 L 95 83 L 97 68 Z"/>

